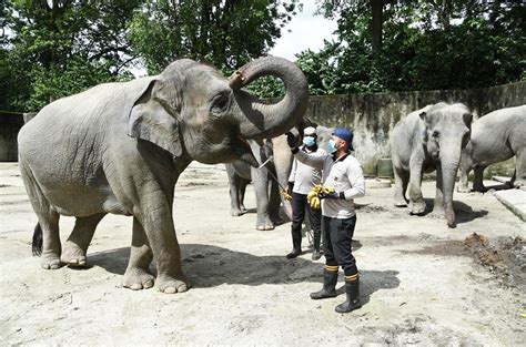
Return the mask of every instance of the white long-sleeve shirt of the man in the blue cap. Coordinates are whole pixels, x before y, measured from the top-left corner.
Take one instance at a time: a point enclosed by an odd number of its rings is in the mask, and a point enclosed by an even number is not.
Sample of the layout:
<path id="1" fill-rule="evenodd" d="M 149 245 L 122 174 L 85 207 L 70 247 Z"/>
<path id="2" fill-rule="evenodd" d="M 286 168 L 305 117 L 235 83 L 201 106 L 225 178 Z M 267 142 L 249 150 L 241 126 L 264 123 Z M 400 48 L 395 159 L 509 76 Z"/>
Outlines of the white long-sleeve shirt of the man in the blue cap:
<path id="1" fill-rule="evenodd" d="M 310 166 L 322 170 L 322 182 L 326 187 L 334 187 L 345 198 L 324 198 L 322 214 L 332 218 L 351 218 L 356 214 L 354 198 L 365 195 L 365 178 L 362 165 L 351 153 L 336 160 L 333 155 L 310 155 L 303 151 L 294 157 Z"/>

